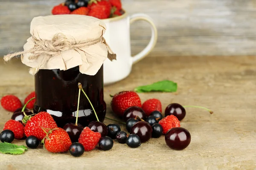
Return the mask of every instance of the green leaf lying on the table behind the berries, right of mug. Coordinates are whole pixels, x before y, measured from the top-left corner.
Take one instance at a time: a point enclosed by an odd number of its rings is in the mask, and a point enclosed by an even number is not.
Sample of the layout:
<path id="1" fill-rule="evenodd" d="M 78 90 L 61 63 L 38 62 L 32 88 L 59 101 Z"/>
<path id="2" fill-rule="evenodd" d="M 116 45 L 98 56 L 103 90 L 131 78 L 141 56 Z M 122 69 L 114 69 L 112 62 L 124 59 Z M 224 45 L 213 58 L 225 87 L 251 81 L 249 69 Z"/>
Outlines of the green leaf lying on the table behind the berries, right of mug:
<path id="1" fill-rule="evenodd" d="M 160 82 L 155 82 L 151 85 L 137 87 L 134 90 L 138 93 L 150 91 L 175 92 L 177 91 L 177 83 L 169 80 L 163 80 Z"/>

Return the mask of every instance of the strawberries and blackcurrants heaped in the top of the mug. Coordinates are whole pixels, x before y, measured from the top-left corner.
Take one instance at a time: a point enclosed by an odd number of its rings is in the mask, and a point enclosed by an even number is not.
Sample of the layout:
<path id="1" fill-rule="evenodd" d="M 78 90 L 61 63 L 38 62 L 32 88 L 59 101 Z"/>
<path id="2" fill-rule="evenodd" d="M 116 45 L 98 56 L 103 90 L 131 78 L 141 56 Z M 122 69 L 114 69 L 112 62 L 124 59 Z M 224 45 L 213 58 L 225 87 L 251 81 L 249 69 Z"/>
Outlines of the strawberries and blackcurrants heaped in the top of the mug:
<path id="1" fill-rule="evenodd" d="M 107 19 L 122 15 L 121 0 L 66 0 L 52 8 L 53 15 L 77 14 Z"/>

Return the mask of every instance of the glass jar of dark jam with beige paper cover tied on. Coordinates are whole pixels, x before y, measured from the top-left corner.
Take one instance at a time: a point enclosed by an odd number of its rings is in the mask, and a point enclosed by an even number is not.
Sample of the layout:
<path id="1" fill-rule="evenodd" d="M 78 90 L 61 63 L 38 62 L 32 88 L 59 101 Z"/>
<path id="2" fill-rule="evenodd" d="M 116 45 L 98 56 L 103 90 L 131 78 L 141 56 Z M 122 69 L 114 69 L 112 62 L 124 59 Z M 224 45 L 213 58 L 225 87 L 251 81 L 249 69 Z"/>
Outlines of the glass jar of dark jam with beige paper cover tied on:
<path id="1" fill-rule="evenodd" d="M 34 113 L 46 111 L 58 127 L 67 123 L 87 126 L 103 121 L 106 103 L 103 92 L 103 62 L 116 59 L 103 34 L 105 23 L 84 15 L 35 17 L 21 60 L 35 75 Z M 81 93 L 78 108 L 79 87 Z"/>

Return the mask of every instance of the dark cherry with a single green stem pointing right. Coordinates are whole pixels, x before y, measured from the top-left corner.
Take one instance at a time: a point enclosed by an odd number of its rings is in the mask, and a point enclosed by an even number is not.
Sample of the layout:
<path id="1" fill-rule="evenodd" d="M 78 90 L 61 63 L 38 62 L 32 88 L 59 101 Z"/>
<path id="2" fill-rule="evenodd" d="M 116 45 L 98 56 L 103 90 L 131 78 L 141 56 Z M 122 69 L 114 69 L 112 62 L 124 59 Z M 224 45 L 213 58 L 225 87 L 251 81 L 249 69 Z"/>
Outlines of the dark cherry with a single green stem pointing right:
<path id="1" fill-rule="evenodd" d="M 178 103 L 172 103 L 166 107 L 165 116 L 173 115 L 182 120 L 186 116 L 186 110 Z"/>

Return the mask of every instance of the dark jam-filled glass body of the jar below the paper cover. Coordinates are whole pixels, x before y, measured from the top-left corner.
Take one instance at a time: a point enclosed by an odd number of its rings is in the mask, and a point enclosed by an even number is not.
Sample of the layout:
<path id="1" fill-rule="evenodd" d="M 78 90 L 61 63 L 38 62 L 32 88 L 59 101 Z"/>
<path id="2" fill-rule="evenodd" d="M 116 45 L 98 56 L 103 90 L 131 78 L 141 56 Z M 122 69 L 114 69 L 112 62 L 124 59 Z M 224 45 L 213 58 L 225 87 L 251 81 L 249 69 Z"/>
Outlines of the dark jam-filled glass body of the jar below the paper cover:
<path id="1" fill-rule="evenodd" d="M 79 82 L 89 97 L 99 121 L 103 122 L 106 114 L 106 103 L 103 95 L 103 65 L 94 76 L 81 74 L 79 66 L 66 71 L 59 69 L 38 71 L 35 75 L 34 113 L 47 111 L 52 115 L 58 127 L 64 127 L 70 122 L 75 123 Z M 85 127 L 91 121 L 96 121 L 96 116 L 89 101 L 81 91 L 78 123 Z"/>

